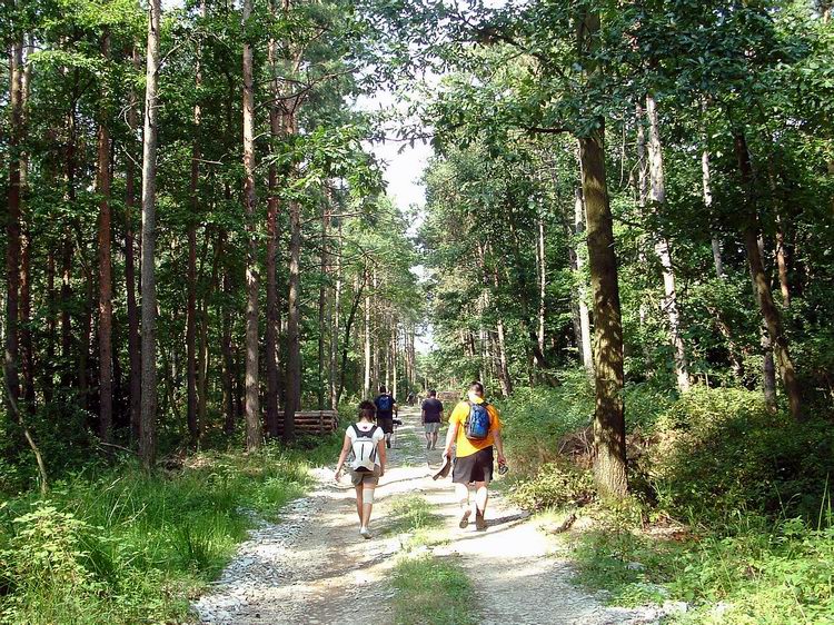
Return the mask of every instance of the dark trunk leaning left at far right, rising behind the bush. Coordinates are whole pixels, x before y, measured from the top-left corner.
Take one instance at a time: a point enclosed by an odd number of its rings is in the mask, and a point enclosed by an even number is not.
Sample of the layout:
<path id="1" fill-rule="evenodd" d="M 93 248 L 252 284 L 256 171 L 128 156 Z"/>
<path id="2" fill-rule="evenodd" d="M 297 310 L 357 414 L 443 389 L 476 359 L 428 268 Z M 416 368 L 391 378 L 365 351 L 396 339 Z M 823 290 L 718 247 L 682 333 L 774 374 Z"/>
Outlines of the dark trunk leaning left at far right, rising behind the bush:
<path id="1" fill-rule="evenodd" d="M 784 385 L 785 394 L 787 395 L 791 416 L 795 420 L 802 421 L 804 420 L 804 415 L 802 414 L 800 383 L 796 379 L 796 371 L 794 370 L 793 360 L 791 359 L 787 337 L 782 327 L 782 315 L 773 301 L 771 284 L 767 279 L 767 274 L 764 270 L 762 252 L 758 247 L 758 209 L 755 204 L 755 196 L 752 191 L 753 167 L 749 160 L 749 151 L 747 150 L 747 141 L 743 133 L 735 133 L 734 147 L 738 169 L 741 171 L 742 185 L 747 190 L 742 235 L 744 238 L 744 248 L 747 252 L 751 278 L 753 279 L 756 300 L 758 301 L 762 317 L 764 318 L 767 328 L 767 335 L 773 345 L 773 350 L 776 353 L 776 360 L 778 361 L 780 370 L 782 371 L 782 384 Z"/>

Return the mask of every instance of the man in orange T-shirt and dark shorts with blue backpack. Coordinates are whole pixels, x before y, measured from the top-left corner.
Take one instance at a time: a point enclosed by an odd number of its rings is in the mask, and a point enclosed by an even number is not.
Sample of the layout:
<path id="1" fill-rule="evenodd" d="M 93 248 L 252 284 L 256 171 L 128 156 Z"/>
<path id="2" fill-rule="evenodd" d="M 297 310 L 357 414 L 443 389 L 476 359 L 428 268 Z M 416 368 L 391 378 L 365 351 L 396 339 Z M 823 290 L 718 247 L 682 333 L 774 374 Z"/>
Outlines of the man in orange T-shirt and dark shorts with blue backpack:
<path id="1" fill-rule="evenodd" d="M 475 527 L 479 532 L 486 529 L 484 514 L 489 500 L 489 482 L 493 479 L 493 447 L 498 452 L 498 466 L 506 464 L 500 428 L 498 410 L 484 400 L 484 385 L 473 381 L 467 400 L 460 401 L 451 411 L 443 453 L 444 458 L 450 458 L 451 446 L 456 446 L 451 482 L 460 503 L 461 529 L 469 525 L 471 516 L 470 485 L 475 490 Z"/>

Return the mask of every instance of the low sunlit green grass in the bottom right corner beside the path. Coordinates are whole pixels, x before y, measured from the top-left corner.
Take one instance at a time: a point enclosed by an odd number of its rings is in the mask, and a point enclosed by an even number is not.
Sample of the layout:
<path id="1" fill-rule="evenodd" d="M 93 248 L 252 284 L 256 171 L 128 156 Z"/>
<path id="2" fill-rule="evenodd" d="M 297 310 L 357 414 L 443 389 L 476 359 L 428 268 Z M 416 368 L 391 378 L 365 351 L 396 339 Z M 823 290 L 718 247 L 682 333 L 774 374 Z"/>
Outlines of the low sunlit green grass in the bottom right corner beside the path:
<path id="1" fill-rule="evenodd" d="M 603 527 L 573 540 L 577 583 L 605 588 L 613 605 L 686 602 L 675 623 L 834 622 L 831 526 L 739 518 L 732 535 L 662 539 Z"/>

